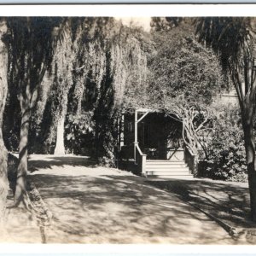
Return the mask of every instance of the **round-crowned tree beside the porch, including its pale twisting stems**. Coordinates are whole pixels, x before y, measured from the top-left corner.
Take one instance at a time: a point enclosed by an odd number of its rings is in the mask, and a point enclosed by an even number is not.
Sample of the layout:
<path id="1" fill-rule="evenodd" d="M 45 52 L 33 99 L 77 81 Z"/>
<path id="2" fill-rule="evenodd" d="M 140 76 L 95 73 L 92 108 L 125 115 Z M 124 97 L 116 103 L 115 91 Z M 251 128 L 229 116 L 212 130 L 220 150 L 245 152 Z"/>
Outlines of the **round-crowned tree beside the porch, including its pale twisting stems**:
<path id="1" fill-rule="evenodd" d="M 183 142 L 198 154 L 200 137 L 212 119 L 208 106 L 223 84 L 218 58 L 196 41 L 186 24 L 156 32 L 154 38 L 158 49 L 149 62 L 150 107 L 182 122 Z"/>

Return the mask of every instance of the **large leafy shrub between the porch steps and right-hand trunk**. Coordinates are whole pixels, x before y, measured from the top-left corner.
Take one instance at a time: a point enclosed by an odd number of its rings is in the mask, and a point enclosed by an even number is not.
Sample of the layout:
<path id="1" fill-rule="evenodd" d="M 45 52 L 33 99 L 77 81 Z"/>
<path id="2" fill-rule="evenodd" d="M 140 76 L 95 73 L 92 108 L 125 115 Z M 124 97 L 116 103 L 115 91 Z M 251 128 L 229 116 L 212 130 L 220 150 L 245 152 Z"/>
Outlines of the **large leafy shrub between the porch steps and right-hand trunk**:
<path id="1" fill-rule="evenodd" d="M 247 161 L 238 111 L 228 107 L 215 120 L 208 143 L 207 177 L 246 182 Z"/>

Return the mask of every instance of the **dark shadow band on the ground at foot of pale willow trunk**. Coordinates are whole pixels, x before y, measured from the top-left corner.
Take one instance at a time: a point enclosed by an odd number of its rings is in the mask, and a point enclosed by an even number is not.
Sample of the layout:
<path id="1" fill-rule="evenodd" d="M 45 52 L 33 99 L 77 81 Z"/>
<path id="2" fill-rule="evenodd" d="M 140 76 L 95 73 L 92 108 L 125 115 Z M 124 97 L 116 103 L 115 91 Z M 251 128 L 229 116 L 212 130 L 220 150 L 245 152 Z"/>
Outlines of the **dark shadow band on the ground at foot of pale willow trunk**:
<path id="1" fill-rule="evenodd" d="M 55 166 L 84 166 L 94 168 L 96 167 L 96 160 L 88 159 L 86 157 L 73 156 L 54 156 L 49 157 L 48 160 L 28 160 L 28 171 L 37 172 L 40 169 L 54 169 Z"/>

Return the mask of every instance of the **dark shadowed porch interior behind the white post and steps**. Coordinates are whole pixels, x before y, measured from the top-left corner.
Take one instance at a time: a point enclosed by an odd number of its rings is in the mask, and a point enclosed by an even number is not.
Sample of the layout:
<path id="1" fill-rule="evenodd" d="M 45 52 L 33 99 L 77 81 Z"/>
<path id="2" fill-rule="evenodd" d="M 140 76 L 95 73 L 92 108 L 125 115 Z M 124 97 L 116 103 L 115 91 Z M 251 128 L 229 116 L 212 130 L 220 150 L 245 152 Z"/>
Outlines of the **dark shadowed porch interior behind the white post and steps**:
<path id="1" fill-rule="evenodd" d="M 138 119 L 142 116 L 139 113 Z M 125 113 L 125 146 L 121 152 L 124 158 L 133 157 L 134 122 L 134 113 Z M 143 154 L 147 154 L 147 159 L 170 160 L 175 151 L 183 146 L 181 133 L 182 123 L 166 116 L 166 113 L 148 113 L 137 125 L 137 140 Z"/>

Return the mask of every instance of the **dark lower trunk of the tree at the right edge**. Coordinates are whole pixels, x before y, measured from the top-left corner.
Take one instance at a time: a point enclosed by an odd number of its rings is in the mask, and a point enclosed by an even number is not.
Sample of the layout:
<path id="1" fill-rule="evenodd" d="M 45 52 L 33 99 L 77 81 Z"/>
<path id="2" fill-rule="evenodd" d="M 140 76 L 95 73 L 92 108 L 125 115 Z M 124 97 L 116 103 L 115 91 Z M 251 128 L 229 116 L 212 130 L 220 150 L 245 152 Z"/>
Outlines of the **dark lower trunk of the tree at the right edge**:
<path id="1" fill-rule="evenodd" d="M 247 172 L 250 192 L 251 217 L 256 222 L 256 168 L 255 168 L 255 143 L 253 135 L 253 121 L 243 120 L 245 149 L 247 155 Z"/>

